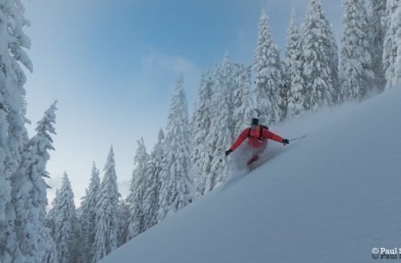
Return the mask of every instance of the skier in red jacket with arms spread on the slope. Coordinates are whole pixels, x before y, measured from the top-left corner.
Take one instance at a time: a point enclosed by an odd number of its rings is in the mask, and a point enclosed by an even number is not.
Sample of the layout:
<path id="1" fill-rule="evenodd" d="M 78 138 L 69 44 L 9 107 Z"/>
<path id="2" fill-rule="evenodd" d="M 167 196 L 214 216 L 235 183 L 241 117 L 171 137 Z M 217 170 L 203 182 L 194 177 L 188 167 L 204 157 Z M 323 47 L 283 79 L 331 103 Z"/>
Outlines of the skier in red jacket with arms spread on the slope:
<path id="1" fill-rule="evenodd" d="M 271 131 L 268 130 L 268 127 L 264 125 L 259 125 L 259 119 L 253 118 L 250 127 L 244 129 L 240 136 L 235 140 L 233 145 L 229 150 L 225 152 L 225 156 L 231 154 L 231 152 L 235 151 L 242 143 L 248 138 L 248 147 L 242 148 L 241 151 L 246 151 L 251 153 L 251 158 L 248 160 L 247 165 L 250 168 L 252 163 L 259 159 L 259 154 L 266 149 L 267 139 L 274 140 L 278 143 L 282 144 L 290 144 L 288 139 L 283 139 L 281 136 L 277 136 Z M 237 158 L 240 158 L 238 156 Z M 235 162 L 234 162 L 235 163 Z"/>

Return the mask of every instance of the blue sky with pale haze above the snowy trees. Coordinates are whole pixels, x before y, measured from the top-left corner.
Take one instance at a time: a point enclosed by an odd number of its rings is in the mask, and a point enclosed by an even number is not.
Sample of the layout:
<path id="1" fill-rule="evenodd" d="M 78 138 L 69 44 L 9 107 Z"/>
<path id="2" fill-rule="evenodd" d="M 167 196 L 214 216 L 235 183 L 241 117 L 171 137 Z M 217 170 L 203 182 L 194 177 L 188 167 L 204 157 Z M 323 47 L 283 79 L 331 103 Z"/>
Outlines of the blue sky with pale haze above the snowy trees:
<path id="1" fill-rule="evenodd" d="M 201 71 L 219 62 L 225 50 L 235 62 L 253 62 L 262 8 L 283 53 L 291 7 L 300 21 L 307 2 L 24 2 L 34 64 L 25 86 L 31 135 L 43 112 L 59 100 L 56 151 L 48 163 L 50 185 L 58 187 L 66 171 L 78 201 L 85 194 L 92 161 L 102 170 L 113 144 L 120 191 L 127 193 L 136 140 L 143 136 L 151 152 L 160 127 L 166 125 L 176 78 L 184 76 L 192 110 Z M 341 1 L 322 3 L 338 38 Z"/>

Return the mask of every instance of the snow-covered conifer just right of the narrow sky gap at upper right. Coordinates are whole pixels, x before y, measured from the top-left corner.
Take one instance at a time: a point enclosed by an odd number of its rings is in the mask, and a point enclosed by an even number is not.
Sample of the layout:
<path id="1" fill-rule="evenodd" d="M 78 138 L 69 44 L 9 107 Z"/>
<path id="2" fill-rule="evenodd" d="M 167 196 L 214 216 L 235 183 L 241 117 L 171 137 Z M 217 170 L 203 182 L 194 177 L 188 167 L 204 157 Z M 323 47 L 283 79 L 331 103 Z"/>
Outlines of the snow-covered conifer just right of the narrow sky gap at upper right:
<path id="1" fill-rule="evenodd" d="M 364 0 L 343 0 L 340 97 L 362 100 L 368 95 L 374 74 L 369 39 L 369 21 Z"/>

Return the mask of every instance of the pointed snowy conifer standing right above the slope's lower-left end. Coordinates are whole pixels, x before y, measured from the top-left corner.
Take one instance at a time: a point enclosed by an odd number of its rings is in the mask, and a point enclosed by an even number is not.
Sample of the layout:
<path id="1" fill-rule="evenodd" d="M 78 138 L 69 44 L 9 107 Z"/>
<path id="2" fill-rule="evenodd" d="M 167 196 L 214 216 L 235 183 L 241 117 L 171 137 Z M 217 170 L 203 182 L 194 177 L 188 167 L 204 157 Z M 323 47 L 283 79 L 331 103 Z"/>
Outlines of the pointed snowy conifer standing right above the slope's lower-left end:
<path id="1" fill-rule="evenodd" d="M 116 164 L 113 147 L 104 166 L 104 177 L 99 188 L 94 221 L 94 243 L 92 262 L 97 262 L 118 246 L 119 232 L 119 189 L 117 186 Z"/>

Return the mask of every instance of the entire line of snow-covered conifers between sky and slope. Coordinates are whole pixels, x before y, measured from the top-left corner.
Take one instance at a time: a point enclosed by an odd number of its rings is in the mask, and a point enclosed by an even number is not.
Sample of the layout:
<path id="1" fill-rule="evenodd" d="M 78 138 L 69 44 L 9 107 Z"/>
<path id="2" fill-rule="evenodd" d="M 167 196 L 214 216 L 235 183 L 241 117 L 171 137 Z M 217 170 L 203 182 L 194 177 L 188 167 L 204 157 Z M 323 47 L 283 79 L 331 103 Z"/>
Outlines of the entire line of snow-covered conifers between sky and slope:
<path id="1" fill-rule="evenodd" d="M 291 12 L 285 60 L 262 11 L 252 65 L 225 53 L 201 75 L 192 117 L 184 79 L 171 97 L 168 125 L 151 153 L 138 140 L 129 194 L 117 187 L 114 152 L 103 168 L 93 165 L 77 210 L 67 174 L 52 209 L 44 177 L 55 134 L 55 103 L 29 138 L 25 128 L 26 81 L 32 69 L 24 49 L 28 24 L 17 0 L 0 4 L 0 261 L 96 262 L 164 218 L 225 184 L 224 152 L 250 118 L 276 125 L 325 106 L 363 101 L 401 84 L 401 5 L 397 0 L 343 0 L 339 51 L 319 0 L 310 0 L 304 21 Z M 340 53 L 340 57 L 339 57 Z"/>

